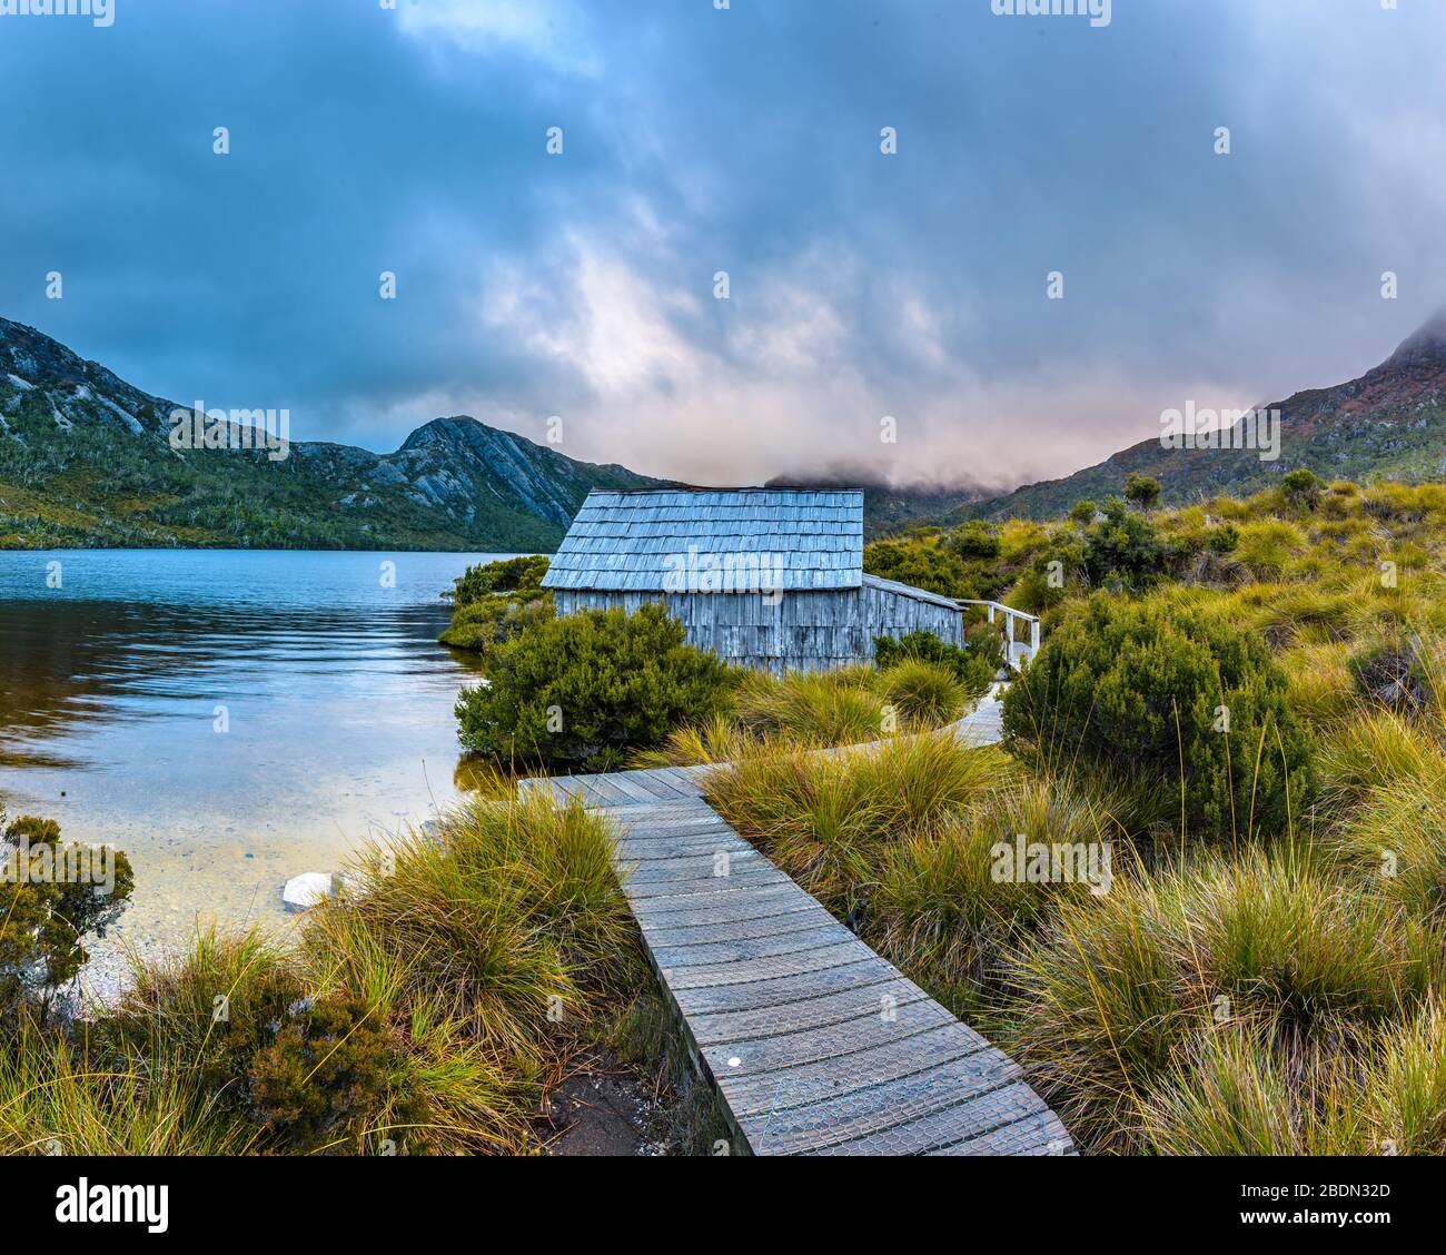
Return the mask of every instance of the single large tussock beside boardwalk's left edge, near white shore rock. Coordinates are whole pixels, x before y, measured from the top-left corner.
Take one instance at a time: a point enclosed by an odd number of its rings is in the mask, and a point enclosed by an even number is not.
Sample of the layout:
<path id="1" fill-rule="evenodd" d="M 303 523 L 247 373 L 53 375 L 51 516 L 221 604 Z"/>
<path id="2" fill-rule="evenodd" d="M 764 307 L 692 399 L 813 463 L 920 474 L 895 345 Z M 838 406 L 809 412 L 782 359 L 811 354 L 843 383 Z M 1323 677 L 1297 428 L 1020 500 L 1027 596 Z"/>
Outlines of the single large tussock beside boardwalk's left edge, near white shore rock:
<path id="1" fill-rule="evenodd" d="M 583 1015 L 636 935 L 612 843 L 607 821 L 576 801 L 471 805 L 440 841 L 418 836 L 364 856 L 354 892 L 308 921 L 308 960 L 324 986 L 401 986 L 484 1044 L 541 1064 L 558 1014 Z"/>

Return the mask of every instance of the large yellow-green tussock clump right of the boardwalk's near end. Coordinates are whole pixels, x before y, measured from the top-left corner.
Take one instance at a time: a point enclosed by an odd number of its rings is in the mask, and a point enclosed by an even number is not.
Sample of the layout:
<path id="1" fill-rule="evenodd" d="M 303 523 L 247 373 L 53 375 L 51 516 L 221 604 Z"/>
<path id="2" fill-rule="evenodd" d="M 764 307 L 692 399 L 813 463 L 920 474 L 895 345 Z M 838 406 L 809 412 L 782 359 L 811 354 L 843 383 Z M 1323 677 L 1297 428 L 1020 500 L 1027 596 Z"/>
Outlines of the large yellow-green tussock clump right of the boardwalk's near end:
<path id="1" fill-rule="evenodd" d="M 1186 1121 L 1212 1068 L 1242 1083 L 1254 1068 L 1246 1096 L 1270 1097 L 1275 1073 L 1235 1047 L 1210 1053 L 1222 1027 L 1275 1060 L 1345 1057 L 1429 1005 L 1440 973 L 1439 938 L 1388 902 L 1285 856 L 1200 854 L 1058 905 L 1012 957 L 1014 1045 L 1077 1139 L 1138 1151 L 1157 1092 L 1174 1086 Z"/>

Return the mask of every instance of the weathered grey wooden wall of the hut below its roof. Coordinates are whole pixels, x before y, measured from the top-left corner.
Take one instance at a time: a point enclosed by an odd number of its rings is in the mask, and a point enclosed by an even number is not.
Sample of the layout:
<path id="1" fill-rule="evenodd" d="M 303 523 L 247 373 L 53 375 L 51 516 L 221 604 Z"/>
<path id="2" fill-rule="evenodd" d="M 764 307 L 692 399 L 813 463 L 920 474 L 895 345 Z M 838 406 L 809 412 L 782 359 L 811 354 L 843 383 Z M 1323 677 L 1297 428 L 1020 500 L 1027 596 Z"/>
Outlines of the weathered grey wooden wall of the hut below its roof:
<path id="1" fill-rule="evenodd" d="M 820 671 L 868 662 L 873 638 L 933 632 L 963 645 L 963 612 L 891 588 L 865 586 L 784 593 L 774 604 L 761 593 L 580 593 L 558 588 L 560 614 L 625 609 L 658 601 L 683 622 L 688 643 L 740 667 L 762 671 Z"/>

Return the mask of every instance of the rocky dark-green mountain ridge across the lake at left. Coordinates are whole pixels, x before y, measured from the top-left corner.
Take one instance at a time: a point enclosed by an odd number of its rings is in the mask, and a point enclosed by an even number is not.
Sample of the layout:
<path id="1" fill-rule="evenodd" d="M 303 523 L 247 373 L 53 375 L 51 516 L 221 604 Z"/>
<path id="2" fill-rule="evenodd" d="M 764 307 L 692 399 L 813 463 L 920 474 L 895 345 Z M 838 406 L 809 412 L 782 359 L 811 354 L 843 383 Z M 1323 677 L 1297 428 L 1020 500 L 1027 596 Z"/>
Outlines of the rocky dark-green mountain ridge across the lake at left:
<path id="1" fill-rule="evenodd" d="M 589 489 L 658 483 L 473 418 L 386 454 L 172 448 L 179 408 L 0 318 L 0 548 L 551 551 Z"/>

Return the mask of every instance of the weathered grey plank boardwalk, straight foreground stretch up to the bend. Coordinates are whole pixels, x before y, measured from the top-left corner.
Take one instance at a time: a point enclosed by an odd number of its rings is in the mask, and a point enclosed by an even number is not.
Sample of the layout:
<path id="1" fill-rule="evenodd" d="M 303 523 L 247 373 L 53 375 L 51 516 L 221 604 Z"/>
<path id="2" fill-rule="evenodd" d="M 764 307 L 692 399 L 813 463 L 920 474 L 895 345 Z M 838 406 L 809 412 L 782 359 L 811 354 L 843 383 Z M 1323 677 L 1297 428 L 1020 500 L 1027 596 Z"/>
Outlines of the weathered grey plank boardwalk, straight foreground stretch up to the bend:
<path id="1" fill-rule="evenodd" d="M 988 706 L 988 703 L 986 703 Z M 966 721 L 967 724 L 969 721 Z M 991 739 L 983 723 L 962 734 Z M 623 886 L 694 1061 L 766 1155 L 1073 1154 L 1018 1064 L 703 800 L 709 768 L 525 781 L 620 831 Z"/>

